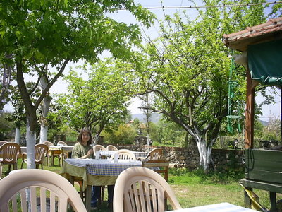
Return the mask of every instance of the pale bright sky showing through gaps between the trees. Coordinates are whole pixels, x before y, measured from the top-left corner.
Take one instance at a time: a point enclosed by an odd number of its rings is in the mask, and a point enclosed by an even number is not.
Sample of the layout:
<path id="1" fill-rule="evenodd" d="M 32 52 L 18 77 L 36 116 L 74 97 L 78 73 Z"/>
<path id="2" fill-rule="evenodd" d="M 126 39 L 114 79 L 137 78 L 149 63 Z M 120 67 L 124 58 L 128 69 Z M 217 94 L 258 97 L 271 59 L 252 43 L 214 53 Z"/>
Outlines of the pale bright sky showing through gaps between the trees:
<path id="1" fill-rule="evenodd" d="M 181 6 L 190 6 L 193 4 L 190 3 L 188 0 L 135 0 L 135 2 L 142 4 L 145 8 L 151 8 L 151 7 L 181 7 Z M 268 1 L 272 2 L 272 1 Z M 202 4 L 197 4 L 197 6 L 203 6 Z M 152 13 L 154 13 L 158 19 L 164 18 L 164 14 L 166 15 L 173 15 L 173 13 L 183 11 L 183 8 L 168 8 L 164 11 L 161 8 L 158 9 L 150 9 Z M 197 10 L 195 8 L 188 8 L 186 9 L 188 16 L 190 19 L 195 18 L 197 16 Z M 137 23 L 135 20 L 135 17 L 132 16 L 128 11 L 118 11 L 117 13 L 109 15 L 111 18 L 114 18 L 115 20 L 121 21 L 123 23 Z M 137 23 L 138 24 L 138 23 Z M 149 36 L 151 39 L 154 39 L 158 36 L 159 27 L 156 24 L 152 25 L 150 28 L 142 28 L 142 35 L 143 36 Z M 108 57 L 109 54 L 103 54 L 101 57 Z M 69 70 L 69 66 L 72 66 L 75 68 L 78 64 L 68 64 L 65 70 L 65 74 Z M 76 69 L 75 69 L 76 70 Z M 62 81 L 62 79 L 59 79 L 54 83 L 54 86 L 51 87 L 50 92 L 51 93 L 66 93 L 67 91 L 67 84 L 66 82 Z M 262 97 L 257 97 L 255 99 L 257 102 L 262 102 Z M 133 103 L 128 107 L 128 109 L 131 111 L 131 113 L 142 113 L 142 110 L 138 109 L 138 107 L 141 107 L 141 102 L 137 98 L 133 98 Z M 263 107 L 263 115 L 262 119 L 264 121 L 268 121 L 270 116 L 279 116 L 280 117 L 280 105 L 281 105 L 281 97 L 279 95 L 276 96 L 277 103 L 275 105 L 266 105 Z M 11 110 L 11 106 L 6 106 L 6 110 Z"/>

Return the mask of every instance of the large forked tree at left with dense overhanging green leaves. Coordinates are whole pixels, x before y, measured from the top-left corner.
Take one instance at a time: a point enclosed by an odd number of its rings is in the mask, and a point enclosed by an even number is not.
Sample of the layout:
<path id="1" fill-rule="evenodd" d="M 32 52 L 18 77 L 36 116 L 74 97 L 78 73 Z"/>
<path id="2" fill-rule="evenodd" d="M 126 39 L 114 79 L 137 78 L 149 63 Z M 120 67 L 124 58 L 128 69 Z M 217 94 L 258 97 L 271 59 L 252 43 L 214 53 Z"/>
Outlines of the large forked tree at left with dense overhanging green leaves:
<path id="1" fill-rule="evenodd" d="M 17 83 L 27 112 L 28 168 L 35 167 L 37 108 L 68 62 L 96 61 L 103 50 L 109 50 L 113 57 L 128 57 L 130 47 L 139 42 L 137 25 L 118 23 L 105 15 L 121 7 L 145 25 L 153 18 L 133 0 L 0 1 L 0 61 L 12 55 L 10 62 L 16 66 Z M 32 102 L 24 73 L 35 71 L 39 79 L 51 70 L 45 66 L 54 67 L 54 77 Z"/>

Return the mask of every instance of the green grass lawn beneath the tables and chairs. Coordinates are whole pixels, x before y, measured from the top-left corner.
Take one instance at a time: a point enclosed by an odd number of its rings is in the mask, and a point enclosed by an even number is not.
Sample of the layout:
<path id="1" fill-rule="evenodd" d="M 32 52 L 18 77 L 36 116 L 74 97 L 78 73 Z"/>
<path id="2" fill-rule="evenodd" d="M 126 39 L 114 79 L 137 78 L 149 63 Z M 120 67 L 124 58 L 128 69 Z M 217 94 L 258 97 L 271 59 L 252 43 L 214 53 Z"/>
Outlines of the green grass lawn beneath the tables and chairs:
<path id="1" fill-rule="evenodd" d="M 18 160 L 20 168 L 21 159 Z M 55 158 L 55 166 L 47 167 L 45 170 L 59 173 L 61 167 L 58 165 Z M 25 168 L 24 165 L 23 168 Z M 3 176 L 8 175 L 8 165 L 4 165 Z M 168 183 L 176 193 L 177 199 L 183 208 L 195 206 L 203 206 L 207 204 L 216 204 L 228 202 L 238 206 L 244 206 L 243 188 L 238 184 L 238 180 L 243 178 L 243 172 L 234 170 L 225 170 L 224 172 L 205 175 L 200 170 L 190 172 L 182 169 L 169 170 Z M 79 190 L 78 184 L 75 187 Z M 254 189 L 254 192 L 259 196 L 260 203 L 270 208 L 268 192 Z M 111 211 L 106 207 L 107 192 L 105 189 L 104 202 L 97 211 Z M 277 200 L 282 199 L 281 194 L 277 194 Z"/>

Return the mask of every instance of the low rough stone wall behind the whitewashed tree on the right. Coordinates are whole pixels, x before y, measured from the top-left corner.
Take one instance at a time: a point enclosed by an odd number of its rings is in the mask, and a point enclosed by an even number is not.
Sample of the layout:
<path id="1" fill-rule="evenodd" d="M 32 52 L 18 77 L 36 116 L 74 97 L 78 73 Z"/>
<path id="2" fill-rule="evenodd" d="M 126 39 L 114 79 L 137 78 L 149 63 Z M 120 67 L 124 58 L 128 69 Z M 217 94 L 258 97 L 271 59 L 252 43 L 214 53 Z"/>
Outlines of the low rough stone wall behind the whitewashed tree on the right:
<path id="1" fill-rule="evenodd" d="M 149 151 L 158 146 L 149 146 Z M 118 149 L 127 148 L 132 151 L 148 151 L 147 146 L 118 145 Z M 190 148 L 159 147 L 163 150 L 164 158 L 170 162 L 171 167 L 186 167 L 190 170 L 199 167 L 200 156 L 196 146 Z M 227 167 L 241 168 L 243 153 L 240 150 L 213 149 L 212 159 L 215 169 Z"/>

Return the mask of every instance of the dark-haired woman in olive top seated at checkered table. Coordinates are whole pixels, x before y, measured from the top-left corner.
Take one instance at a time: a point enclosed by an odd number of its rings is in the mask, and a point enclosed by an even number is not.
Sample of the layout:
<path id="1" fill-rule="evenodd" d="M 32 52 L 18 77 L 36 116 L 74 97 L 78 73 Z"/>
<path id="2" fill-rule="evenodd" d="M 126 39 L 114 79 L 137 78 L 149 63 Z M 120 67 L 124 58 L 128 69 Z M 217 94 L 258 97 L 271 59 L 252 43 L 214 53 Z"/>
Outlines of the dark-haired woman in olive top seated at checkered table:
<path id="1" fill-rule="evenodd" d="M 91 146 L 92 144 L 91 131 L 87 128 L 81 129 L 77 141 L 78 143 L 75 143 L 75 146 L 73 146 L 71 157 L 80 158 L 80 159 L 86 159 L 86 158 L 94 159 L 94 151 Z M 101 196 L 101 187 L 93 186 L 92 197 L 91 197 L 92 208 L 97 208 L 97 201 L 100 196 Z"/>

